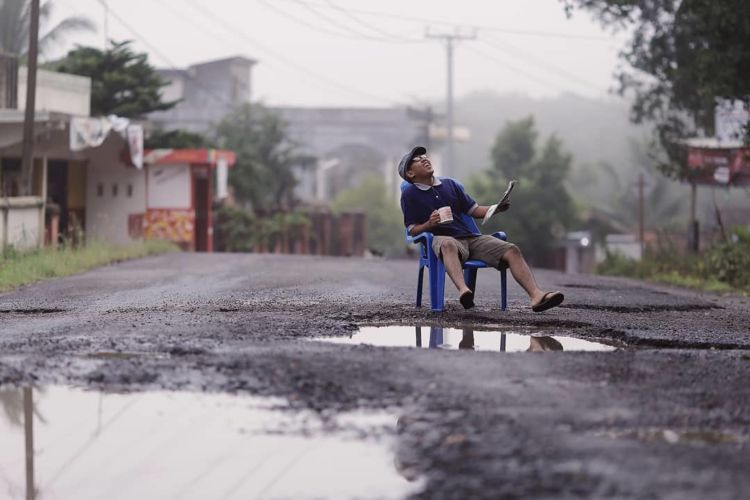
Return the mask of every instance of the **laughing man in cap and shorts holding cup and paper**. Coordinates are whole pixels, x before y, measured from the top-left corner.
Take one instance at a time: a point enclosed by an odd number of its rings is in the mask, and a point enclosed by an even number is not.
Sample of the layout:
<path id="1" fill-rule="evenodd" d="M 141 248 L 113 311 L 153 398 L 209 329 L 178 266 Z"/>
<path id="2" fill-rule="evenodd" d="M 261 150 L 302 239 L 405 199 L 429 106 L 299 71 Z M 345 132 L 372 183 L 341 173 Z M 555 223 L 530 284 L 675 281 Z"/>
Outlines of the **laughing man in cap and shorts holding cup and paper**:
<path id="1" fill-rule="evenodd" d="M 433 233 L 432 249 L 443 261 L 465 309 L 474 307 L 474 292 L 466 286 L 462 269 L 462 262 L 469 259 L 484 261 L 497 269 L 510 268 L 513 278 L 529 294 L 531 309 L 535 312 L 546 311 L 562 303 L 562 293 L 544 292 L 537 286 L 531 269 L 516 245 L 467 227 L 458 214 L 465 213 L 482 219 L 490 207 L 478 205 L 453 179 L 435 177 L 425 148 L 417 146 L 405 154 L 399 162 L 398 173 L 410 183 L 401 193 L 404 225 L 412 236 L 425 231 Z M 456 214 L 452 221 L 440 222 L 438 209 L 443 207 L 450 207 L 450 212 Z M 497 208 L 497 212 L 504 212 L 509 207 L 510 202 L 505 202 Z M 444 208 L 442 211 L 444 216 L 449 215 Z"/>

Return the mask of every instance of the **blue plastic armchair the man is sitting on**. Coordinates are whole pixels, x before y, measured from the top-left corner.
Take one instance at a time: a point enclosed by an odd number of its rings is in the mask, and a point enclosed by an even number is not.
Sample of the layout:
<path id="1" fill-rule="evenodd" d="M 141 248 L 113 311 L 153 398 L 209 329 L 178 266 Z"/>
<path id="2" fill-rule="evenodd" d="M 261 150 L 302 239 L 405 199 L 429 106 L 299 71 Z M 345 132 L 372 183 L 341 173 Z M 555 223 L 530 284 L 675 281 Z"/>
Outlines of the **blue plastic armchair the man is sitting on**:
<path id="1" fill-rule="evenodd" d="M 461 186 L 463 185 L 456 181 Z M 401 191 L 403 192 L 409 183 L 404 181 L 401 183 Z M 466 223 L 467 227 L 472 231 L 480 232 L 477 227 L 474 218 L 467 214 L 460 214 L 461 219 Z M 507 240 L 507 235 L 503 231 L 498 231 L 492 236 Z M 406 241 L 407 243 L 414 243 L 419 245 L 419 273 L 417 275 L 417 307 L 422 307 L 422 282 L 424 278 L 424 268 L 429 270 L 428 279 L 430 282 L 430 308 L 433 311 L 444 311 L 445 310 L 445 266 L 443 261 L 438 258 L 435 252 L 432 251 L 432 238 L 433 235 L 430 232 L 419 233 L 416 236 L 411 236 L 409 230 L 406 230 Z M 484 261 L 481 260 L 467 260 L 464 262 L 464 281 L 472 291 L 476 290 L 477 284 L 477 269 L 489 267 Z M 500 309 L 505 311 L 507 308 L 507 286 L 508 286 L 508 275 L 505 269 L 500 271 Z"/>

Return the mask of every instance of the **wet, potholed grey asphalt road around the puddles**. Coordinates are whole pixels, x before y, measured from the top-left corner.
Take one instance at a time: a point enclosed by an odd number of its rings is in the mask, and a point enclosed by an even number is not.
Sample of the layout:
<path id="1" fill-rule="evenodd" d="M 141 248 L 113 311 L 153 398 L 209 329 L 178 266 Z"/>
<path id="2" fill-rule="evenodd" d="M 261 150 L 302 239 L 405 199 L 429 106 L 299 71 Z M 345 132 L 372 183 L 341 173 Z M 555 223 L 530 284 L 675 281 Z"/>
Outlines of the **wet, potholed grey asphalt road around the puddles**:
<path id="1" fill-rule="evenodd" d="M 413 307 L 416 262 L 176 254 L 0 294 L 0 385 L 273 395 L 396 408 L 423 498 L 747 498 L 750 300 L 537 271 L 531 312 L 480 271 L 477 307 Z M 509 280 L 512 281 L 512 280 Z M 426 301 L 426 298 L 425 298 Z M 615 352 L 309 342 L 361 325 L 544 331 Z M 113 355 L 120 353 L 122 355 Z"/>

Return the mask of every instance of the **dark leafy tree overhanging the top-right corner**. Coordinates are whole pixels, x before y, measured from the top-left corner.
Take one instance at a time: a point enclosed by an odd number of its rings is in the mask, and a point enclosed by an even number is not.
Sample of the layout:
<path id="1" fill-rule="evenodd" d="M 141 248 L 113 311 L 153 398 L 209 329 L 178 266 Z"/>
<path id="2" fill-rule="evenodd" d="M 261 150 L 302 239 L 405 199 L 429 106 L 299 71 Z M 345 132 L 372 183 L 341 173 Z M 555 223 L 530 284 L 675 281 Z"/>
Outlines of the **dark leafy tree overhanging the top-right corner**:
<path id="1" fill-rule="evenodd" d="M 635 94 L 633 120 L 656 126 L 664 174 L 684 175 L 678 140 L 713 133 L 717 98 L 750 104 L 747 0 L 561 1 L 569 15 L 578 7 L 605 26 L 633 30 L 616 78 L 620 93 Z"/>

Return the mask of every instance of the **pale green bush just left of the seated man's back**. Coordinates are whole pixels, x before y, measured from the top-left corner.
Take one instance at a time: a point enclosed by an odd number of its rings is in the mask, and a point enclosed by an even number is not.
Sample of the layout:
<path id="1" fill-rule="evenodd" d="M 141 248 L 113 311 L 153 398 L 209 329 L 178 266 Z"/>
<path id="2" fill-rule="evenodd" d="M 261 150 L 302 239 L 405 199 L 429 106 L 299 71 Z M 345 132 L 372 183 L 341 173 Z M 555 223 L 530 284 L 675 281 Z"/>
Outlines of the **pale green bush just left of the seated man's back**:
<path id="1" fill-rule="evenodd" d="M 364 212 L 367 215 L 367 247 L 382 255 L 404 246 L 401 209 L 389 198 L 380 177 L 368 175 L 362 183 L 338 194 L 331 204 L 335 213 Z"/>

